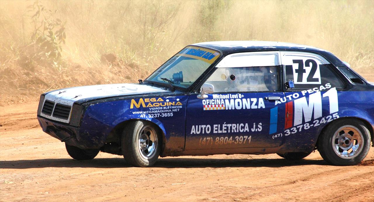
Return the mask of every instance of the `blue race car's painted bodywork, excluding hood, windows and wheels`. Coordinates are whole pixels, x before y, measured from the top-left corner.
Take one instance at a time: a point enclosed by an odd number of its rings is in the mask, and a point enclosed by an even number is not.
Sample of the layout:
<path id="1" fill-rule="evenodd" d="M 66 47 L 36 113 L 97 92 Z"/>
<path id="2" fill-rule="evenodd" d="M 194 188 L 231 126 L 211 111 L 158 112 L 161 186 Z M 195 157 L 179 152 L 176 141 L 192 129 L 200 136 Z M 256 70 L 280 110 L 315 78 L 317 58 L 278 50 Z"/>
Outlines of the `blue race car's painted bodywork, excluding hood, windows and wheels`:
<path id="1" fill-rule="evenodd" d="M 327 51 L 292 46 L 195 46 L 218 50 L 221 56 L 190 88 L 171 91 L 166 85 L 144 83 L 140 85 L 160 91 L 76 100 L 74 105 L 82 109 L 81 116 L 76 118 L 77 125 L 41 116 L 44 103 L 41 99 L 38 120 L 43 131 L 67 144 L 97 149 L 104 147 L 116 128 L 127 121 L 147 120 L 163 133 L 161 156 L 310 152 L 315 149 L 325 126 L 344 117 L 364 120 L 373 134 L 374 88 L 366 81 L 363 85 L 353 85 L 343 79 L 346 86 L 342 89 L 329 86 L 305 92 L 287 91 L 282 87 L 275 92 L 214 93 L 206 99 L 197 98 L 201 83 L 226 55 L 251 51 L 304 51 L 323 56 L 334 67 L 346 67 Z"/>

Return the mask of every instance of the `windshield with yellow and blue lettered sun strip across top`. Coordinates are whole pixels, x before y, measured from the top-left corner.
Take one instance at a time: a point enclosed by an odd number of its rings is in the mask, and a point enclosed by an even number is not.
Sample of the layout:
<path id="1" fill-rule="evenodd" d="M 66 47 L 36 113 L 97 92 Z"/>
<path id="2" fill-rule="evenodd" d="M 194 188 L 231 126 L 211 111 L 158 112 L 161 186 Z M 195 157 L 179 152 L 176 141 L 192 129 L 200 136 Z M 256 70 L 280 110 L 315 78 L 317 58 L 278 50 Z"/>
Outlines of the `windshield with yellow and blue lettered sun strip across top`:
<path id="1" fill-rule="evenodd" d="M 188 88 L 219 56 L 218 51 L 187 46 L 165 62 L 147 80 Z"/>

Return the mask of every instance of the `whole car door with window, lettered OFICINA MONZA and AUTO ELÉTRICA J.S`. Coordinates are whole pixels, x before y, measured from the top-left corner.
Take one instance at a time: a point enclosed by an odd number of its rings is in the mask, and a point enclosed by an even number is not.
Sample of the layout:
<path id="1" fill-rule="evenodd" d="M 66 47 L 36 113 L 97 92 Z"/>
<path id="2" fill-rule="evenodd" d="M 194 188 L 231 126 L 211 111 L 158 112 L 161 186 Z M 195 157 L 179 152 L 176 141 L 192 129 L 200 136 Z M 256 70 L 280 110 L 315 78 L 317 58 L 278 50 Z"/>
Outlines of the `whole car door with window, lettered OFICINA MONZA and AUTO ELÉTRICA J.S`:
<path id="1" fill-rule="evenodd" d="M 227 55 L 205 83 L 214 93 L 191 94 L 186 111 L 186 150 L 278 147 L 285 103 L 279 52 Z M 279 135 L 279 137 L 278 137 Z"/>

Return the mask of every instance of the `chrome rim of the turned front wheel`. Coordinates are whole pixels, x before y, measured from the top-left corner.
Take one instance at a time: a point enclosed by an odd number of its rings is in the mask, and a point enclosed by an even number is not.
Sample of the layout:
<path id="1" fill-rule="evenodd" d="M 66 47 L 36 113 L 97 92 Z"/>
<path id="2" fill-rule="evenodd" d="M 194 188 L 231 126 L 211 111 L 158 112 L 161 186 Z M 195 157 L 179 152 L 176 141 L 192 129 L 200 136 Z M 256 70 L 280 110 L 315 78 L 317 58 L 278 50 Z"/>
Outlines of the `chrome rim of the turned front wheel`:
<path id="1" fill-rule="evenodd" d="M 140 130 L 138 148 L 140 154 L 145 159 L 154 156 L 157 149 L 157 134 L 151 126 L 144 126 Z"/>

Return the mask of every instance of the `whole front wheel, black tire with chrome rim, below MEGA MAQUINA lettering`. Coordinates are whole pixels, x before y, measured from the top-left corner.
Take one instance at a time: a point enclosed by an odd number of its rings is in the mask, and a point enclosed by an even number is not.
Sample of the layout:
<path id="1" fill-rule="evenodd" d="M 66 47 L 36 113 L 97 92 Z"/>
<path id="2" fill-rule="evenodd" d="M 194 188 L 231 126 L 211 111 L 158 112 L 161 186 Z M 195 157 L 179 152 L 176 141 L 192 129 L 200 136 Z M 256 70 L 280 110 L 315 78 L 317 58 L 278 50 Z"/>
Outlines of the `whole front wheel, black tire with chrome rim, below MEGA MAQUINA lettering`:
<path id="1" fill-rule="evenodd" d="M 122 133 L 122 153 L 126 162 L 135 167 L 152 166 L 161 150 L 159 129 L 150 122 L 129 122 Z"/>

